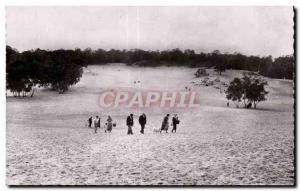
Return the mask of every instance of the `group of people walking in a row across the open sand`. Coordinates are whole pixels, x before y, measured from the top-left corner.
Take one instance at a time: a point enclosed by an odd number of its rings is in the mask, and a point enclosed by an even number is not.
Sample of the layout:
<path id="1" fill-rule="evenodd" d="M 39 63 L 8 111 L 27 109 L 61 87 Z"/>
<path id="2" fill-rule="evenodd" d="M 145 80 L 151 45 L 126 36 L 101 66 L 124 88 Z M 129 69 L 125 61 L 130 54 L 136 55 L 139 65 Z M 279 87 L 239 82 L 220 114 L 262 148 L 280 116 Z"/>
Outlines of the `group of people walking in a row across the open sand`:
<path id="1" fill-rule="evenodd" d="M 167 114 L 162 121 L 161 124 L 161 128 L 159 129 L 159 132 L 161 133 L 162 131 L 165 131 L 166 133 L 168 133 L 168 129 L 169 129 L 169 117 L 170 114 Z M 111 118 L 111 116 L 108 116 L 106 123 L 105 123 L 105 132 L 111 132 L 112 131 L 112 127 L 116 126 L 115 123 L 112 123 L 113 120 Z M 92 128 L 94 123 L 94 129 L 95 129 L 95 133 L 97 133 L 97 129 L 100 128 L 100 117 L 96 116 L 95 119 L 93 120 L 93 117 L 90 117 L 88 119 L 88 127 Z M 178 115 L 174 114 L 173 118 L 172 118 L 172 133 L 175 132 L 177 130 L 177 125 L 180 123 L 179 119 L 178 119 Z M 143 113 L 142 115 L 139 116 L 139 124 L 141 126 L 141 130 L 140 133 L 144 134 L 144 130 L 145 130 L 145 126 L 147 124 L 147 117 L 146 114 Z M 132 127 L 134 125 L 134 119 L 133 119 L 133 114 L 131 113 L 129 116 L 127 116 L 126 119 L 126 125 L 128 127 L 128 131 L 127 134 L 128 135 L 133 135 L 133 131 L 132 131 Z"/>

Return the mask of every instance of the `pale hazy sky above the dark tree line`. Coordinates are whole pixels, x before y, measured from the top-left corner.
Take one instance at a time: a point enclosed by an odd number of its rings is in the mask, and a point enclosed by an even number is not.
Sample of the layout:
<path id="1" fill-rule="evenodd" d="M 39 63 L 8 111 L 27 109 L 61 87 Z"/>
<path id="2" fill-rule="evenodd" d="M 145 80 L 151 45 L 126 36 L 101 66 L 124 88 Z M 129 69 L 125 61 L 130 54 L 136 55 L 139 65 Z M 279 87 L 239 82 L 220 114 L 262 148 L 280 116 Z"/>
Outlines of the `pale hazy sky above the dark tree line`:
<path id="1" fill-rule="evenodd" d="M 293 53 L 292 7 L 7 7 L 19 51 L 87 48 Z"/>

